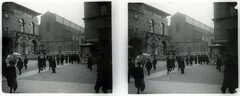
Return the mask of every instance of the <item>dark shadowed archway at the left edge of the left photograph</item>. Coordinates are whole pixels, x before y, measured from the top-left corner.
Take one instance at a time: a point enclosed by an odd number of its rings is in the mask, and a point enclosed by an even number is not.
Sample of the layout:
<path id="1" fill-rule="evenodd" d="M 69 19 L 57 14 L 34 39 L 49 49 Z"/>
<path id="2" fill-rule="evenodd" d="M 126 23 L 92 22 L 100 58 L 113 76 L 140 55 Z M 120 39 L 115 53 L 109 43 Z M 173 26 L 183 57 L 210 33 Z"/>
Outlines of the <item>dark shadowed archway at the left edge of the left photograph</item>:
<path id="1" fill-rule="evenodd" d="M 2 56 L 7 57 L 13 52 L 14 41 L 9 37 L 2 38 Z"/>

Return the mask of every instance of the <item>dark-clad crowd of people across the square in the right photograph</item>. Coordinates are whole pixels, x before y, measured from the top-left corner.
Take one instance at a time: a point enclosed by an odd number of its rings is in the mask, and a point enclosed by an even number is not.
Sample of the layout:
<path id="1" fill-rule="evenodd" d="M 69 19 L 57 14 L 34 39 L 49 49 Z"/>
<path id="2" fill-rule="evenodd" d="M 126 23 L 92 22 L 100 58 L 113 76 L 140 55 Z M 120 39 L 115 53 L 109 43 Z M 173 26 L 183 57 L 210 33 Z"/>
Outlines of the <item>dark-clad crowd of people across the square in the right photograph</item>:
<path id="1" fill-rule="evenodd" d="M 222 60 L 218 56 L 216 62 L 216 68 L 221 72 L 221 66 L 224 67 L 224 80 L 221 88 L 222 93 L 226 93 L 226 88 L 229 88 L 230 93 L 235 93 L 236 88 L 238 88 L 238 64 L 233 62 L 230 58 L 230 54 L 225 54 Z M 209 56 L 208 55 L 188 55 L 188 56 L 167 56 L 166 58 L 166 70 L 167 74 L 169 74 L 172 70 L 175 69 L 175 63 L 178 65 L 178 70 L 181 71 L 181 74 L 185 74 L 184 69 L 186 66 L 193 66 L 195 64 L 207 64 L 209 65 Z M 142 58 L 137 61 L 137 66 L 135 67 L 135 59 L 130 58 L 128 61 L 128 82 L 130 82 L 130 77 L 132 76 L 135 81 L 135 87 L 137 88 L 137 94 L 139 94 L 139 90 L 141 87 L 141 81 L 144 80 L 144 67 L 147 70 L 147 75 L 150 75 L 150 70 L 152 67 L 156 70 L 157 60 L 154 57 L 152 60 L 149 58 Z"/>

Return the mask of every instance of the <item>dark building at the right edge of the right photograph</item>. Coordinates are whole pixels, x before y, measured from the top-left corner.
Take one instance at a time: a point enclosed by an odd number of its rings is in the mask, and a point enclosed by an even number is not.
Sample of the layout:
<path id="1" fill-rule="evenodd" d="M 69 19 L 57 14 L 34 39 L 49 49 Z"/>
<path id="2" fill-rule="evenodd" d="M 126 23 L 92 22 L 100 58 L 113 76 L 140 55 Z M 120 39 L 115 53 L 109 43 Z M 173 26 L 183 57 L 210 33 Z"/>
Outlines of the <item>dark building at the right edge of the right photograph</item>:
<path id="1" fill-rule="evenodd" d="M 238 57 L 238 12 L 237 2 L 214 3 L 214 43 L 220 44 L 216 48 L 218 55 L 230 52 L 235 61 Z"/>

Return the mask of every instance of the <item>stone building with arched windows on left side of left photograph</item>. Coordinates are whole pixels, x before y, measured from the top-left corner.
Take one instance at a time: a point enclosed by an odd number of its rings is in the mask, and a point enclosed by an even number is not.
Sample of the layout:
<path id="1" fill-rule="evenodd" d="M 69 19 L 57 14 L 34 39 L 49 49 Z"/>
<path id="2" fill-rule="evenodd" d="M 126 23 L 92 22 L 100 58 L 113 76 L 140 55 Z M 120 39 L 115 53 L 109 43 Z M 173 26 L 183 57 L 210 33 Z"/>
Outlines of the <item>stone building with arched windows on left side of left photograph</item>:
<path id="1" fill-rule="evenodd" d="M 42 42 L 38 32 L 40 13 L 14 2 L 2 5 L 2 56 L 12 52 L 38 54 Z M 31 56 L 30 56 L 31 57 Z"/>

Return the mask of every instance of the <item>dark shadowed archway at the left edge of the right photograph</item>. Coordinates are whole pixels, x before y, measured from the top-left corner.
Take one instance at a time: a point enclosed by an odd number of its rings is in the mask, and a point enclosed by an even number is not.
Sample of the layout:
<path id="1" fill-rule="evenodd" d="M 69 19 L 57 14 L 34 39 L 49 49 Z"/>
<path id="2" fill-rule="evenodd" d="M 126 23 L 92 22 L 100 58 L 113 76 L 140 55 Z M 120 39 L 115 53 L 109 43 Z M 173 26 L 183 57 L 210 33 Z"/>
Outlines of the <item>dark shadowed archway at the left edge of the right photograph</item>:
<path id="1" fill-rule="evenodd" d="M 140 38 L 131 38 L 128 42 L 128 45 L 132 47 L 128 50 L 129 57 L 136 57 L 143 51 L 143 41 Z"/>

